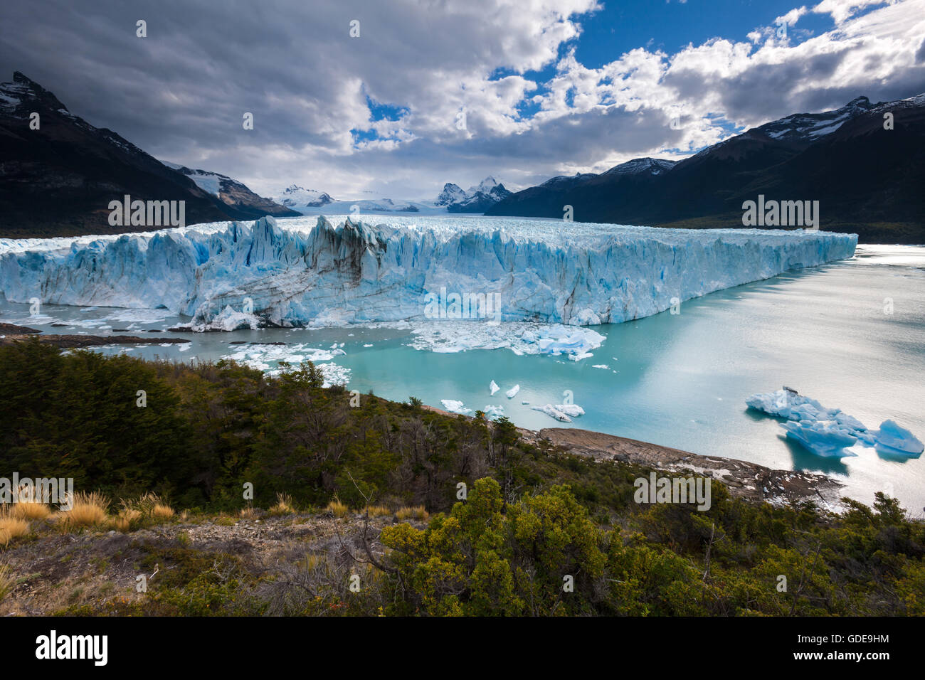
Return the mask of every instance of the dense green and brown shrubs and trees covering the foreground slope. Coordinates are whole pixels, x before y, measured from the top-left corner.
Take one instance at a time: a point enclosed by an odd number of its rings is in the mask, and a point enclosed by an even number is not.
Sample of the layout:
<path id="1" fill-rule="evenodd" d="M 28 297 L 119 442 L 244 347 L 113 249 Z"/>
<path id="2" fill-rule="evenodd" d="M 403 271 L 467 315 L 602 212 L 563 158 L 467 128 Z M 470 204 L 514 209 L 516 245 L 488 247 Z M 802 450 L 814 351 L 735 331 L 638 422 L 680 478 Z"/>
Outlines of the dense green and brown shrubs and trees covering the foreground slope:
<path id="1" fill-rule="evenodd" d="M 637 504 L 646 469 L 531 445 L 504 419 L 321 384 L 313 365 L 268 378 L 19 342 L 0 348 L 0 476 L 155 491 L 198 512 L 240 509 L 252 483 L 260 507 L 282 492 L 302 507 L 336 495 L 432 515 L 382 530 L 388 553 L 364 565 L 355 594 L 356 566 L 303 563 L 287 581 L 234 556 L 144 548 L 145 560 L 183 568 L 120 613 L 925 614 L 925 525 L 893 499 L 845 500 L 834 517 L 747 503 L 714 483 L 706 512 Z M 312 597 L 281 589 L 296 579 Z"/>

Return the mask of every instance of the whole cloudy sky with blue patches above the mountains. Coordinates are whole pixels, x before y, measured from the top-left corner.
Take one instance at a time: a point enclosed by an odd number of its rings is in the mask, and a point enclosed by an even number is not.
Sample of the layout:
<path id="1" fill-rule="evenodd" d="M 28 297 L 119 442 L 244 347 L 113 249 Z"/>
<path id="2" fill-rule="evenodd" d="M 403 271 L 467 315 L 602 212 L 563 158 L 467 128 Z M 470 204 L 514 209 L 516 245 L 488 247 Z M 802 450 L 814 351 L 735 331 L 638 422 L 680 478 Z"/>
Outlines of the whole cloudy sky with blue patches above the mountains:
<path id="1" fill-rule="evenodd" d="M 32 0 L 0 7 L 14 70 L 262 195 L 433 199 L 923 93 L 925 0 Z"/>

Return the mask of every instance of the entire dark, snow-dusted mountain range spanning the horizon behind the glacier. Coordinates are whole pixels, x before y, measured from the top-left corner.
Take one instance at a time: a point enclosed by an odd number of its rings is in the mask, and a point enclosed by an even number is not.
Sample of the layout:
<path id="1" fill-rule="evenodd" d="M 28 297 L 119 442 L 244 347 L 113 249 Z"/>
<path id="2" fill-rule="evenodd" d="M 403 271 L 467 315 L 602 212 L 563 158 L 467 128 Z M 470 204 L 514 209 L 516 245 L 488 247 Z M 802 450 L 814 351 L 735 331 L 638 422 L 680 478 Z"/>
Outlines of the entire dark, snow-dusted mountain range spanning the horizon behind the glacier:
<path id="1" fill-rule="evenodd" d="M 109 202 L 126 194 L 184 201 L 187 224 L 357 209 L 561 218 L 572 206 L 575 221 L 689 229 L 741 227 L 743 203 L 763 195 L 819 201 L 821 229 L 861 241 L 925 243 L 925 94 L 783 117 L 682 161 L 635 158 L 516 193 L 492 177 L 467 191 L 448 182 L 434 201 L 416 202 L 338 200 L 295 184 L 264 198 L 226 175 L 157 160 L 19 72 L 0 83 L 0 140 L 0 237 L 150 229 L 109 224 Z"/>

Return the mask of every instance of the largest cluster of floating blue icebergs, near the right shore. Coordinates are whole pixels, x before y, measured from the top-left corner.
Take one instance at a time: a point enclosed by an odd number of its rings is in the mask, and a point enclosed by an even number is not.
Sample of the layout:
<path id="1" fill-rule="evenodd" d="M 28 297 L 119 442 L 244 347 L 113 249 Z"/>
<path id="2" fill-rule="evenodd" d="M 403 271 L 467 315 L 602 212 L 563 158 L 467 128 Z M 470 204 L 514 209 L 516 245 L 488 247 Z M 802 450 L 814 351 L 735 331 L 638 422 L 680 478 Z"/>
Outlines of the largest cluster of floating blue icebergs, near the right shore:
<path id="1" fill-rule="evenodd" d="M 756 411 L 786 418 L 781 427 L 787 431 L 787 438 L 819 456 L 856 456 L 847 450 L 858 442 L 898 456 L 919 456 L 925 450 L 919 439 L 892 420 L 884 420 L 879 430 L 870 430 L 841 409 L 825 408 L 793 389 L 753 394 L 746 404 Z"/>

